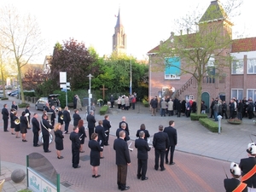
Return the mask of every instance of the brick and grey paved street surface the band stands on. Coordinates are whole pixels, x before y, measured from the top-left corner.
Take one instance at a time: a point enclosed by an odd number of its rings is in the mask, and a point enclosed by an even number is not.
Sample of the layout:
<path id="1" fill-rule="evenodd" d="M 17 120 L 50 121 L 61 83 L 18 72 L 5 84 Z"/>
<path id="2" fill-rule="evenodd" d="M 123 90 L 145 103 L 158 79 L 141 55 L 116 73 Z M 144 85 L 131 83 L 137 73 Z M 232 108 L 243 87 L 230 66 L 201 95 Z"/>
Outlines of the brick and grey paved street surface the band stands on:
<path id="1" fill-rule="evenodd" d="M 0 101 L 0 108 L 3 108 Z M 10 106 L 10 105 L 9 105 Z M 31 105 L 31 112 L 35 112 Z M 111 134 L 125 115 L 130 127 L 131 139 L 135 139 L 135 134 L 139 126 L 144 123 L 151 134 L 154 135 L 158 130 L 158 125 L 168 125 L 170 119 L 175 120 L 178 143 L 175 152 L 174 166 L 166 165 L 166 171 L 154 170 L 154 148 L 148 154 L 148 181 L 137 179 L 137 150 L 131 152 L 131 166 L 128 168 L 127 185 L 131 186 L 130 191 L 224 191 L 223 179 L 225 172 L 229 174 L 230 161 L 239 162 L 246 157 L 247 143 L 250 142 L 250 134 L 255 133 L 255 125 L 252 120 L 244 119 L 242 125 L 229 125 L 223 120 L 223 132 L 221 134 L 207 131 L 197 121 L 193 122 L 189 118 L 181 117 L 152 117 L 148 108 L 140 106 L 135 110 L 110 113 L 112 123 Z M 19 110 L 19 112 L 21 109 Z M 98 111 L 98 108 L 97 108 Z M 84 116 L 84 111 L 80 113 Z M 38 111 L 38 113 L 42 113 Z M 40 117 L 41 118 L 41 117 Z M 103 119 L 96 113 L 96 119 Z M 70 126 L 70 130 L 72 126 Z M 116 184 L 116 166 L 114 164 L 113 139 L 110 137 L 110 145 L 104 148 L 105 159 L 101 160 L 99 172 L 102 177 L 92 178 L 90 172 L 90 154 L 87 148 L 88 138 L 85 139 L 85 153 L 80 154 L 80 169 L 73 169 L 71 165 L 71 142 L 69 135 L 64 138 L 63 160 L 58 160 L 55 154 L 55 143 L 51 143 L 49 149 L 52 153 L 44 154 L 43 147 L 32 147 L 32 131 L 27 133 L 27 143 L 22 143 L 21 139 L 16 139 L 9 132 L 3 132 L 3 121 L 0 121 L 1 139 L 1 160 L 2 167 L 7 172 L 11 170 L 10 165 L 24 168 L 26 165 L 26 154 L 38 152 L 43 154 L 61 174 L 61 191 L 119 191 Z M 254 137 L 252 137 L 254 139 Z M 133 146 L 133 143 L 132 143 Z M 223 169 L 224 167 L 224 169 Z M 2 169 L 1 169 L 2 170 Z M 9 177 L 8 174 L 2 177 Z M 26 183 L 24 183 L 26 186 Z M 9 186 L 9 189 L 5 187 Z M 3 191 L 17 191 L 15 184 L 9 181 L 4 186 Z M 22 186 L 21 186 L 22 187 Z"/>

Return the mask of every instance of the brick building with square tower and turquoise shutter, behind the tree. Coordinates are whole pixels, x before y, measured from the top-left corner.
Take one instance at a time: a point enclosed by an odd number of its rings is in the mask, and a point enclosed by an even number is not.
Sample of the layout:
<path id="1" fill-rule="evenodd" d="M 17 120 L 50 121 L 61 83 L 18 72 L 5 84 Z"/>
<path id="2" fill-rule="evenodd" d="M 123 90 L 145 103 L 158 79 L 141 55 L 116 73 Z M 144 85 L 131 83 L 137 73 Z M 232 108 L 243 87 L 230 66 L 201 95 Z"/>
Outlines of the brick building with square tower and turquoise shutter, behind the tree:
<path id="1" fill-rule="evenodd" d="M 218 18 L 207 18 L 207 11 L 212 9 L 212 6 L 217 7 L 219 10 Z M 214 23 L 222 25 L 220 32 L 223 35 L 230 35 L 232 40 L 232 26 L 233 24 L 225 19 L 225 13 L 218 0 L 212 1 L 205 14 L 202 15 L 199 22 L 207 22 L 209 28 L 214 27 Z M 200 28 L 199 28 L 200 31 Z M 177 97 L 179 100 L 196 99 L 197 96 L 197 81 L 189 73 L 181 73 L 177 67 L 166 68 L 155 67 L 158 66 L 157 62 L 160 60 L 158 51 L 162 44 L 166 42 L 172 42 L 172 36 L 165 42 L 160 42 L 154 49 L 148 51 L 149 56 L 149 84 L 148 84 L 148 98 L 153 96 L 172 96 Z M 181 34 L 183 35 L 183 34 Z M 189 34 L 193 36 L 194 34 Z M 256 38 L 242 38 L 232 40 L 232 44 L 224 49 L 222 56 L 232 57 L 229 66 L 218 68 L 218 71 L 214 68 L 214 62 L 218 61 L 218 57 L 212 57 L 207 61 L 208 69 L 212 70 L 213 75 L 205 73 L 202 79 L 202 91 L 201 100 L 205 101 L 209 107 L 212 97 L 220 97 L 223 100 L 229 102 L 231 97 L 242 99 L 243 97 L 252 97 L 253 101 L 256 101 Z M 178 55 L 177 55 L 178 57 Z M 186 61 L 183 59 L 172 59 L 172 65 L 177 65 L 180 68 L 187 67 Z M 163 59 L 161 59 L 163 60 Z M 165 61 L 162 61 L 165 63 Z M 163 64 L 163 66 L 165 66 Z"/>

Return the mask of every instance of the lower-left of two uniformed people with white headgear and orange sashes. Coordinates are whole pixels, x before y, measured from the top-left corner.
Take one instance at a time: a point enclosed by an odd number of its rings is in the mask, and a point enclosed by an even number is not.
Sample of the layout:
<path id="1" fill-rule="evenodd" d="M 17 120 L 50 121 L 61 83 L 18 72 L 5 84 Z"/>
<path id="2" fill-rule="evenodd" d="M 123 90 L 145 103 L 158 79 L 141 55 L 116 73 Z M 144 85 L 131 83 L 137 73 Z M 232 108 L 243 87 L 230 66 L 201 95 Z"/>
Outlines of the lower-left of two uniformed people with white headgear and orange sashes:
<path id="1" fill-rule="evenodd" d="M 247 184 L 241 183 L 239 178 L 241 177 L 241 169 L 240 167 L 231 162 L 230 164 L 230 172 L 232 178 L 225 178 L 224 179 L 224 188 L 226 192 L 247 192 Z"/>

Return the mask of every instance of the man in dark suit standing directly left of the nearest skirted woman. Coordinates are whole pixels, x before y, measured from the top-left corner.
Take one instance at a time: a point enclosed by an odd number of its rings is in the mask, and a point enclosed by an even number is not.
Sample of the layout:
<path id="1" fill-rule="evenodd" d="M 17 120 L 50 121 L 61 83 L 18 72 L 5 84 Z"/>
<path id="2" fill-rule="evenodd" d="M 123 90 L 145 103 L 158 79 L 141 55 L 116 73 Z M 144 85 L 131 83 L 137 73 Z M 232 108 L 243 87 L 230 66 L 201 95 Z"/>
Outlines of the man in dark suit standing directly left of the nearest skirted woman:
<path id="1" fill-rule="evenodd" d="M 70 133 L 69 139 L 72 141 L 73 168 L 80 168 L 81 166 L 79 166 L 79 148 L 80 148 L 79 127 L 75 126 L 73 128 L 73 132 Z"/>

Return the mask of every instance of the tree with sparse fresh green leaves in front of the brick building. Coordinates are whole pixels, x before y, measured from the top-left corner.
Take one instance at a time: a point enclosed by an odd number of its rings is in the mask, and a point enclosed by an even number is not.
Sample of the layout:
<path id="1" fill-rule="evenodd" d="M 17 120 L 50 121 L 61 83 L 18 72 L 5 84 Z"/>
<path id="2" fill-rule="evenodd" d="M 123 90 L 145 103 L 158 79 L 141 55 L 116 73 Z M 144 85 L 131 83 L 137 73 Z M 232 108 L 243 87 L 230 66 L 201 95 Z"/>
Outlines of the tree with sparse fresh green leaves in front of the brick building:
<path id="1" fill-rule="evenodd" d="M 175 35 L 172 32 L 171 37 L 160 44 L 158 54 L 161 60 L 158 67 L 176 67 L 177 72 L 180 72 L 177 75 L 189 73 L 194 77 L 197 82 L 198 109 L 201 108 L 204 76 L 221 78 L 224 73 L 229 73 L 233 25 L 229 14 L 239 7 L 241 1 L 230 0 L 228 4 L 223 7 L 218 1 L 212 1 L 204 15 L 194 13 L 177 20 L 178 29 L 185 28 L 187 34 L 180 31 Z M 182 64 L 177 65 L 177 61 Z M 197 110 L 197 113 L 201 113 L 201 110 Z"/>

